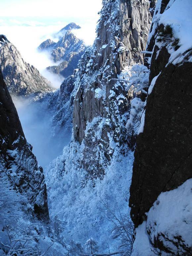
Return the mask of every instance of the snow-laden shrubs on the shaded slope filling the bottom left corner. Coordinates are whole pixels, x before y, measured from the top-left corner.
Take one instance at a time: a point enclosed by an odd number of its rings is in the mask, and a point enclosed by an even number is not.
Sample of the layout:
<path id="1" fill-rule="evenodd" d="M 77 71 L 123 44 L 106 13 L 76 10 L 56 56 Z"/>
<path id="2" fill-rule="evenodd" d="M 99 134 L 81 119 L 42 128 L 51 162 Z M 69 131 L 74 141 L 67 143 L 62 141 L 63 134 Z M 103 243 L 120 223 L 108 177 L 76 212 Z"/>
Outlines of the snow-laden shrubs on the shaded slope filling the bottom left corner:
<path id="1" fill-rule="evenodd" d="M 0 171 L 0 255 L 64 255 L 68 250 L 60 240 L 50 225 L 35 218 L 26 198 Z"/>

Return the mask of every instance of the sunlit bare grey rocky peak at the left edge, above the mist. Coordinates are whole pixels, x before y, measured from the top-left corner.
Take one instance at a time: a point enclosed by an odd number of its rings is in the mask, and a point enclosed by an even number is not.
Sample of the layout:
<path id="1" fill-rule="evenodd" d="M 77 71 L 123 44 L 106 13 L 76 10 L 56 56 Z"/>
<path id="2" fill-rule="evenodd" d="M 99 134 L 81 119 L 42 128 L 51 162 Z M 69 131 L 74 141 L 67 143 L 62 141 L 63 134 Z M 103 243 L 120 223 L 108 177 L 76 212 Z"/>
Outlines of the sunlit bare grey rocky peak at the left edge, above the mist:
<path id="1" fill-rule="evenodd" d="M 52 90 L 50 82 L 23 60 L 20 52 L 4 35 L 0 35 L 0 60 L 0 68 L 11 94 L 28 96 Z"/>

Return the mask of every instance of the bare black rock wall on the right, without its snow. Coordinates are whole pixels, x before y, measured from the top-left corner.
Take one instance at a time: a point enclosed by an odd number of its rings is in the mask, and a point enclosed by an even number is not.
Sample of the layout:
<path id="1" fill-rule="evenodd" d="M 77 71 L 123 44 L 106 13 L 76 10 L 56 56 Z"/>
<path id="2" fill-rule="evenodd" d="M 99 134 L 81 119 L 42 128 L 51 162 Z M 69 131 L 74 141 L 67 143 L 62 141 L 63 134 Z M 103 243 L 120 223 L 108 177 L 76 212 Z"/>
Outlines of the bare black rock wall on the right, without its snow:
<path id="1" fill-rule="evenodd" d="M 161 13 L 167 4 L 162 1 Z M 155 29 L 148 49 L 153 49 L 151 42 L 155 42 L 160 28 Z M 192 178 L 192 63 L 184 59 L 176 65 L 168 64 L 169 56 L 165 44 L 160 49 L 155 45 L 150 83 L 160 75 L 147 97 L 144 130 L 136 141 L 130 187 L 129 206 L 135 227 L 147 219 L 145 213 L 161 192 Z"/>

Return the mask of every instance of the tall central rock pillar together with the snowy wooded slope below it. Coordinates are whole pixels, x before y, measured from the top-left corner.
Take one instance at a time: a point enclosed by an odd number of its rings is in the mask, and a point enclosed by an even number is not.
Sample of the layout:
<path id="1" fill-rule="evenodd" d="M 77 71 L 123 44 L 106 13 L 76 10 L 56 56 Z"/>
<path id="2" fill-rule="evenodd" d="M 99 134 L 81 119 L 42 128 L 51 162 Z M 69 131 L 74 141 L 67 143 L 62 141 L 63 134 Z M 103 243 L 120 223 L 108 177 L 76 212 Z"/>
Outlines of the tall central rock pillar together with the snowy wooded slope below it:
<path id="1" fill-rule="evenodd" d="M 127 215 L 134 148 L 134 138 L 125 128 L 134 90 L 117 79 L 127 78 L 128 65 L 134 63 L 144 76 L 141 51 L 153 7 L 148 1 L 132 4 L 103 1 L 97 38 L 75 74 L 72 142 L 45 172 L 50 216 L 63 223 L 62 234 L 81 244 L 93 237 L 99 251 L 108 253 L 122 245 L 120 236 L 113 239 L 108 215 L 114 208 L 117 215 Z M 131 225 L 129 218 L 127 222 Z M 131 242 L 123 250 L 129 253 L 130 248 Z"/>

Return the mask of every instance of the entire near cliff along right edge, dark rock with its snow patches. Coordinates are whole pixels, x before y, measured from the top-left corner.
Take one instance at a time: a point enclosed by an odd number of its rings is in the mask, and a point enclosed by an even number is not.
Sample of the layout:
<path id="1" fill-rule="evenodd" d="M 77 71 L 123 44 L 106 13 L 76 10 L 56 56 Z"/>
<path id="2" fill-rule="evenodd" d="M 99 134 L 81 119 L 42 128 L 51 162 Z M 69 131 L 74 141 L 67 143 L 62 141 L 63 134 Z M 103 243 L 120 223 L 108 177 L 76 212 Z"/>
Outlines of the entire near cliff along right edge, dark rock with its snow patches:
<path id="1" fill-rule="evenodd" d="M 187 200 L 179 191 L 187 191 L 186 184 L 191 181 L 185 181 L 192 178 L 192 45 L 184 38 L 191 38 L 191 32 L 185 31 L 191 26 L 191 9 L 191 1 L 159 0 L 153 17 L 148 41 L 151 85 L 136 141 L 130 188 L 131 218 L 135 227 L 140 225 L 133 255 L 143 255 L 139 239 L 146 231 L 151 245 L 145 255 L 191 255 L 191 222 L 187 220 L 191 209 L 187 213 L 184 205 L 180 211 L 182 203 L 178 203 L 182 196 Z M 182 188 L 177 188 L 180 185 Z M 168 203 L 171 193 L 177 209 Z M 150 246 L 154 246 L 152 250 Z"/>

